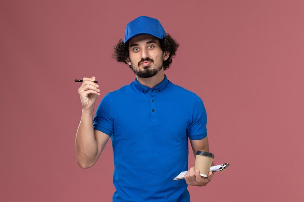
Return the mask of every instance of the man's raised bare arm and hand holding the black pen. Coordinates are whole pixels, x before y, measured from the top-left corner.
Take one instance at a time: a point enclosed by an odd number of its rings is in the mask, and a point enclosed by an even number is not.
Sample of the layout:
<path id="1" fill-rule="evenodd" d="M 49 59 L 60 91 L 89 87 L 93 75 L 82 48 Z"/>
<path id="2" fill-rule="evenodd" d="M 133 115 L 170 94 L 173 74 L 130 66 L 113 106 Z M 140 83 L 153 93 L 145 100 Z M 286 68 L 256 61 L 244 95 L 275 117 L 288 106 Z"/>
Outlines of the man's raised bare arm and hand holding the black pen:
<path id="1" fill-rule="evenodd" d="M 95 77 L 83 78 L 78 89 L 83 106 L 81 121 L 76 133 L 77 163 L 81 168 L 89 168 L 95 164 L 104 149 L 109 136 L 93 129 L 94 104 L 99 94 Z"/>

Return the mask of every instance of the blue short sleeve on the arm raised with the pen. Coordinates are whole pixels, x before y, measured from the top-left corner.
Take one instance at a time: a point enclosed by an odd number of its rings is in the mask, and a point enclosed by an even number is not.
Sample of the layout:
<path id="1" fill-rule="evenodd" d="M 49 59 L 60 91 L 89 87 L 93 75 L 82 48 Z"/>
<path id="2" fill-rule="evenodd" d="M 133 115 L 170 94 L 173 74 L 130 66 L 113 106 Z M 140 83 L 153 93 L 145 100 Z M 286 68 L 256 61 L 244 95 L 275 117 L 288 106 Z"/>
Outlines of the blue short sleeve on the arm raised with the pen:
<path id="1" fill-rule="evenodd" d="M 114 130 L 113 123 L 111 96 L 110 94 L 107 94 L 105 97 L 103 97 L 97 107 L 93 121 L 93 128 L 94 130 L 99 130 L 111 136 Z"/>

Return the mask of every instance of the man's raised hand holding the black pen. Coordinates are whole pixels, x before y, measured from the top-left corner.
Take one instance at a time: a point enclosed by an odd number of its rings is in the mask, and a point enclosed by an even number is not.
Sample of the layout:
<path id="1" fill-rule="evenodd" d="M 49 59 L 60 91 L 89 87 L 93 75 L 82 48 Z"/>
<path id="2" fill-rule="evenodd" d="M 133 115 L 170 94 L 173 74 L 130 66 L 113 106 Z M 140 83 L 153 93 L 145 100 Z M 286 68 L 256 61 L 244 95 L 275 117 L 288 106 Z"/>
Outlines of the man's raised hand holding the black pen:
<path id="1" fill-rule="evenodd" d="M 100 95 L 99 85 L 94 83 L 95 77 L 84 77 L 83 83 L 78 89 L 83 109 L 93 109 L 97 97 Z"/>

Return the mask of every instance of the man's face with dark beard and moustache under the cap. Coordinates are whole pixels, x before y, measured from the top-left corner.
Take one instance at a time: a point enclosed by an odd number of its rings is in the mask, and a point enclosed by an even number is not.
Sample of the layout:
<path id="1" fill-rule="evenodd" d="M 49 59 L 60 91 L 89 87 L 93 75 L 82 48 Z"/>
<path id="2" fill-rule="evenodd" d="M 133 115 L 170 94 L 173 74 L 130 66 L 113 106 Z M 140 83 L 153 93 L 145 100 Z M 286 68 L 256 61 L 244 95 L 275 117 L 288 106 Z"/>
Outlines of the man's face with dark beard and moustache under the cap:
<path id="1" fill-rule="evenodd" d="M 133 72 L 141 78 L 149 78 L 163 69 L 169 53 L 163 52 L 159 39 L 143 34 L 129 41 L 129 58 L 126 60 Z"/>

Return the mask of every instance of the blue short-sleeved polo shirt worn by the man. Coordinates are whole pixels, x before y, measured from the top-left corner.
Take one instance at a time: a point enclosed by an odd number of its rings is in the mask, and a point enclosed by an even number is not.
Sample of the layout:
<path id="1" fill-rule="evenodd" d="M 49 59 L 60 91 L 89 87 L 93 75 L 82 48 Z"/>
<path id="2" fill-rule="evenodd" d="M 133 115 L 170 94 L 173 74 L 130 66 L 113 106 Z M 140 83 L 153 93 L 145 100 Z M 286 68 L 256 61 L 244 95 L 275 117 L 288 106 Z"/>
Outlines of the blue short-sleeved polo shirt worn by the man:
<path id="1" fill-rule="evenodd" d="M 189 202 L 186 181 L 173 178 L 188 170 L 188 138 L 205 138 L 206 124 L 202 100 L 166 76 L 154 88 L 135 79 L 108 93 L 94 129 L 111 136 L 113 202 Z"/>

